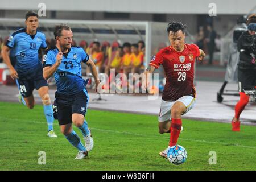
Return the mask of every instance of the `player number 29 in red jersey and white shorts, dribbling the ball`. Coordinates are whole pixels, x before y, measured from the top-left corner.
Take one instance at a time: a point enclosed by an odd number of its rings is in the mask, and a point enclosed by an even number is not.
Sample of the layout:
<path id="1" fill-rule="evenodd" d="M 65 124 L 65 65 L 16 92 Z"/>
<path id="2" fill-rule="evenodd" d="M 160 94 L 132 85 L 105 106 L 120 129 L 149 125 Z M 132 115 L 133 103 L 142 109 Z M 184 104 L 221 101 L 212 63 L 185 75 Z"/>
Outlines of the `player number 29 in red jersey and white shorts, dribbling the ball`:
<path id="1" fill-rule="evenodd" d="M 181 115 L 191 110 L 195 104 L 196 90 L 193 85 L 195 60 L 203 60 L 204 51 L 195 44 L 185 43 L 186 26 L 181 22 L 168 24 L 167 32 L 171 46 L 161 49 L 151 60 L 144 72 L 154 72 L 155 68 L 163 65 L 166 75 L 162 102 L 160 105 L 159 133 L 171 133 L 169 146 L 159 154 L 167 158 L 171 146 L 177 144 L 181 130 Z M 144 82 L 147 86 L 148 82 Z"/>

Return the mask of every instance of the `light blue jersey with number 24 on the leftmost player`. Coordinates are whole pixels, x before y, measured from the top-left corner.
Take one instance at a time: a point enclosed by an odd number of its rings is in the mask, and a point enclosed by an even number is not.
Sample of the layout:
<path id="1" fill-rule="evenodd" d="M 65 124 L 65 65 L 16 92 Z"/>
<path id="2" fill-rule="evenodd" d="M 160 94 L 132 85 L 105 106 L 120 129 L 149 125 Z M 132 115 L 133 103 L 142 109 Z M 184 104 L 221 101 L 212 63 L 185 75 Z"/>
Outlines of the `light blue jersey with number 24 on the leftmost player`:
<path id="1" fill-rule="evenodd" d="M 22 28 L 11 34 L 6 46 L 12 49 L 12 56 L 16 60 L 15 69 L 19 75 L 32 73 L 36 68 L 42 67 L 38 51 L 40 48 L 47 48 L 43 32 L 36 31 L 35 35 L 29 35 L 26 28 Z"/>

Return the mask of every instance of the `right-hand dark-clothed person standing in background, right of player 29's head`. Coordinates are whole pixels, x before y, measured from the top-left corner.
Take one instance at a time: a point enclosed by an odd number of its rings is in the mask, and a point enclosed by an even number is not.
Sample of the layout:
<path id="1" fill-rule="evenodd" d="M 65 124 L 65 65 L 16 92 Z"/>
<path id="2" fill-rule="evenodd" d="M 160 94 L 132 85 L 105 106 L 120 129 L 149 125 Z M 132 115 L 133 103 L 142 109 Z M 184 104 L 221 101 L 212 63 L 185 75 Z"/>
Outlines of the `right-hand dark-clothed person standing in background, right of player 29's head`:
<path id="1" fill-rule="evenodd" d="M 209 32 L 209 36 L 207 39 L 207 45 L 208 45 L 208 53 L 209 53 L 209 65 L 212 65 L 213 61 L 213 53 L 215 51 L 215 39 L 216 39 L 216 32 L 213 30 L 212 26 L 208 25 L 207 30 Z"/>

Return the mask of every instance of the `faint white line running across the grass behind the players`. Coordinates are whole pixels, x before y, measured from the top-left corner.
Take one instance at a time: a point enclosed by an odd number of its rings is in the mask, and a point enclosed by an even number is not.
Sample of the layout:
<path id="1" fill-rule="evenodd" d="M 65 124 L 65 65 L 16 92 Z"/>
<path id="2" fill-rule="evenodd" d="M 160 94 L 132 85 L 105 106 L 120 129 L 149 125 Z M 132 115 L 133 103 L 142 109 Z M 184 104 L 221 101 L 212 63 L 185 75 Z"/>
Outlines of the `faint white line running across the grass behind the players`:
<path id="1" fill-rule="evenodd" d="M 1 117 L 0 119 L 10 119 L 10 118 L 5 118 L 5 117 Z M 12 121 L 23 121 L 23 122 L 28 122 L 27 120 L 24 119 L 11 119 Z M 33 123 L 44 123 L 44 122 L 40 122 L 40 121 L 29 121 L 29 122 L 33 122 Z M 53 123 L 54 125 L 57 125 L 57 123 Z M 118 133 L 118 134 L 127 134 L 127 135 L 136 135 L 136 136 L 141 136 L 141 137 L 163 137 L 163 135 L 145 135 L 145 134 L 138 134 L 138 133 L 131 133 L 131 132 L 127 132 L 127 131 L 116 131 L 116 130 L 105 130 L 105 129 L 97 129 L 95 127 L 90 127 L 90 129 L 92 130 L 97 130 L 97 131 L 103 131 L 103 132 L 109 132 L 109 133 Z M 251 149 L 255 149 L 256 147 L 253 146 L 243 146 L 241 144 L 231 144 L 231 143 L 221 143 L 221 142 L 211 142 L 211 141 L 207 141 L 207 140 L 194 140 L 194 139 L 185 139 L 185 138 L 180 138 L 181 140 L 187 140 L 187 141 L 191 141 L 191 142 L 201 142 L 201 143 L 211 143 L 211 144 L 221 144 L 223 146 L 236 146 L 236 147 L 243 147 L 243 148 L 251 148 Z"/>

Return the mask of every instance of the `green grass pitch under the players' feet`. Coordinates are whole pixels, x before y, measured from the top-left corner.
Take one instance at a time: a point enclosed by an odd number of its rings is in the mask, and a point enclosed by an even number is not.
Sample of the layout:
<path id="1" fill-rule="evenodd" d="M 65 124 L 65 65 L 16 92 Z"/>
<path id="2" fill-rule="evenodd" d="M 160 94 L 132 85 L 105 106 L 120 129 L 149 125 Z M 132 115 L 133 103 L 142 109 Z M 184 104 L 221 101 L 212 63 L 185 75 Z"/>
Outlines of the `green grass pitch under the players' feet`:
<path id="1" fill-rule="evenodd" d="M 94 148 L 84 160 L 74 160 L 77 150 L 60 133 L 47 137 L 43 107 L 0 102 L 0 170 L 255 170 L 256 127 L 241 125 L 232 132 L 229 123 L 183 119 L 184 132 L 178 144 L 188 152 L 179 166 L 161 158 L 170 138 L 158 133 L 154 115 L 88 110 L 86 120 L 92 129 Z M 82 137 L 80 131 L 73 127 Z M 82 140 L 82 142 L 84 142 Z M 38 164 L 39 151 L 46 152 L 46 164 Z M 209 164 L 210 151 L 216 164 Z"/>

